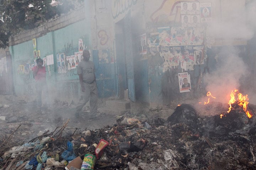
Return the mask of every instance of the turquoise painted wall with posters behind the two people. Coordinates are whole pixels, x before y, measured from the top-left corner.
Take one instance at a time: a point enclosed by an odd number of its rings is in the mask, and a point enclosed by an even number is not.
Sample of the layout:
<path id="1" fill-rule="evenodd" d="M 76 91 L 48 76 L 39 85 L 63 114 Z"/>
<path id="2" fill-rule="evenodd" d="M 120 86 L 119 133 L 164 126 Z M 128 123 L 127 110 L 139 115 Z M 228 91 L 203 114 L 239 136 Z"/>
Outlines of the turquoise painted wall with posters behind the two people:
<path id="1" fill-rule="evenodd" d="M 87 7 L 89 8 L 89 7 Z M 90 16 L 90 15 L 88 15 Z M 87 18 L 63 27 L 57 24 L 56 30 L 43 33 L 42 36 L 10 47 L 14 72 L 14 90 L 17 95 L 36 93 L 32 68 L 36 59 L 43 60 L 46 68 L 49 99 L 79 98 L 80 85 L 77 75 L 78 63 L 82 60 L 82 51 L 91 51 L 91 28 Z M 68 22 L 64 20 L 64 22 Z M 54 26 L 54 23 L 53 23 Z M 31 36 L 23 33 L 20 36 Z M 92 57 L 91 59 L 92 60 Z"/>

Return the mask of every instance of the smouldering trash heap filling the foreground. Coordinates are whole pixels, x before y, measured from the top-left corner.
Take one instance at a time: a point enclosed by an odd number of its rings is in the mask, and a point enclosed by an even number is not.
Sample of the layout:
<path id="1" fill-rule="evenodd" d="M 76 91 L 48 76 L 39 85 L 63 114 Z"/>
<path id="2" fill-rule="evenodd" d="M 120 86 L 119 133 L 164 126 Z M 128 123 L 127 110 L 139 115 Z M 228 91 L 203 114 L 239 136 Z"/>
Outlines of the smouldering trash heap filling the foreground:
<path id="1" fill-rule="evenodd" d="M 68 121 L 23 145 L 3 140 L 0 169 L 256 169 L 256 118 L 240 111 L 199 117 L 182 104 L 166 120 L 120 116 L 113 127 L 62 137 Z"/>

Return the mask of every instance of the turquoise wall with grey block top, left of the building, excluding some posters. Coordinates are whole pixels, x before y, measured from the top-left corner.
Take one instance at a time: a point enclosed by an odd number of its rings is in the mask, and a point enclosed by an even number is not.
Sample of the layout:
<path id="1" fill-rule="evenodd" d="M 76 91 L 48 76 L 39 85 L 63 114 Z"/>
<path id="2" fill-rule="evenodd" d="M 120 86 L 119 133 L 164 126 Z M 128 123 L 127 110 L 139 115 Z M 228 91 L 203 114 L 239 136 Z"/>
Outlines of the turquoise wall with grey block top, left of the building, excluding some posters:
<path id="1" fill-rule="evenodd" d="M 79 51 L 79 39 L 83 41 L 84 47 L 92 50 L 91 27 L 89 5 L 79 10 L 61 16 L 34 30 L 21 33 L 10 38 L 10 53 L 14 72 L 14 89 L 17 95 L 34 94 L 34 78 L 32 67 L 37 56 L 34 52 L 46 60 L 47 85 L 51 98 L 72 99 L 78 98 L 80 86 L 76 68 L 68 69 L 66 57 L 74 55 Z M 33 45 L 36 40 L 36 46 Z M 59 70 L 59 54 L 64 54 L 62 64 L 63 70 Z M 91 57 L 92 60 L 92 57 Z"/>

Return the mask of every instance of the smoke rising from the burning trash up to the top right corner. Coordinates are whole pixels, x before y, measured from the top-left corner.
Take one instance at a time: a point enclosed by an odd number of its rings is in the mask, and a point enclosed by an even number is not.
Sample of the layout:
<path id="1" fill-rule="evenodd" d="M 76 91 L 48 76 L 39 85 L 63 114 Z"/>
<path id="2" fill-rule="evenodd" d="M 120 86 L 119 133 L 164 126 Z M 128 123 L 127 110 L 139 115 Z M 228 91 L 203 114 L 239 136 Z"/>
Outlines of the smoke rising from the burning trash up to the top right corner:
<path id="1" fill-rule="evenodd" d="M 222 3 L 220 14 L 214 14 L 219 17 L 213 17 L 207 32 L 213 34 L 215 39 L 222 39 L 224 45 L 231 40 L 246 42 L 253 38 L 256 22 L 254 22 L 255 8 L 252 6 L 256 6 L 256 2 L 247 5 L 248 7 L 244 3 L 240 0 Z M 235 46 L 223 46 L 214 57 L 217 63 L 216 70 L 203 78 L 206 90 L 210 91 L 219 102 L 228 103 L 231 91 L 239 89 L 243 85 L 241 80 L 250 75 L 249 67 L 245 62 L 246 57 L 239 56 L 240 52 Z"/>

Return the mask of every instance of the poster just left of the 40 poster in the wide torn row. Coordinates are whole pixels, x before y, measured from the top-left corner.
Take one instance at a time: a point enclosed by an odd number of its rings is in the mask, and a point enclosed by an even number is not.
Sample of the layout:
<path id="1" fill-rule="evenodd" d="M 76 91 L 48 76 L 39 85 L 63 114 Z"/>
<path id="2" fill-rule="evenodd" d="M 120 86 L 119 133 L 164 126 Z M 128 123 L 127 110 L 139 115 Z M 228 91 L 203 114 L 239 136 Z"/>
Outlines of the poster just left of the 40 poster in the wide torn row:
<path id="1" fill-rule="evenodd" d="M 170 46 L 170 27 L 159 27 L 159 46 Z"/>

